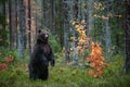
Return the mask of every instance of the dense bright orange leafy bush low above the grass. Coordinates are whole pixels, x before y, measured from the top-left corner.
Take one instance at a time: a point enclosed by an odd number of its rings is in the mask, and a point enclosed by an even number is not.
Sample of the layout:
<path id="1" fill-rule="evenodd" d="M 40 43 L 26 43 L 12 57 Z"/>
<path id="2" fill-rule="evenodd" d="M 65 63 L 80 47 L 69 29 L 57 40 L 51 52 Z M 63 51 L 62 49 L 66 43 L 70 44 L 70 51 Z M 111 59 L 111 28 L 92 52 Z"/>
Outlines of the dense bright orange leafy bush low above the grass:
<path id="1" fill-rule="evenodd" d="M 90 57 L 87 58 L 87 62 L 90 62 L 89 75 L 93 77 L 101 77 L 103 75 L 103 67 L 107 66 L 105 59 L 103 55 L 103 49 L 100 44 L 91 44 L 91 53 Z"/>

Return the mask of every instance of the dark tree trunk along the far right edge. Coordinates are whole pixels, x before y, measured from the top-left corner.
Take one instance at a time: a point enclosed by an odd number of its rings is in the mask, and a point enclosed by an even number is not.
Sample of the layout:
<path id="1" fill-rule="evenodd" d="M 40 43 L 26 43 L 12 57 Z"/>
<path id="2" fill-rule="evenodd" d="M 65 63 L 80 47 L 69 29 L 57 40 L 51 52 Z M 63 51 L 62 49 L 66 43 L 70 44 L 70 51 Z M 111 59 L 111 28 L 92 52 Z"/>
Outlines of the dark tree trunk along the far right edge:
<path id="1" fill-rule="evenodd" d="M 130 72 L 130 1 L 125 0 L 125 72 Z"/>

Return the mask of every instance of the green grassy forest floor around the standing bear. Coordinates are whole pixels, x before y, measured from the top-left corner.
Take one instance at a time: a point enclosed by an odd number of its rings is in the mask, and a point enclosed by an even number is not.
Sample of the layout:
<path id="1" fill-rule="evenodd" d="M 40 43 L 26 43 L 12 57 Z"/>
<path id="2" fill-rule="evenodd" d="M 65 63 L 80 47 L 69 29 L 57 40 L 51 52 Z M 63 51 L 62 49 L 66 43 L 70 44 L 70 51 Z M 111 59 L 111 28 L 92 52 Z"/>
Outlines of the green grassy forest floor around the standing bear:
<path id="1" fill-rule="evenodd" d="M 55 66 L 49 67 L 48 80 L 32 80 L 28 77 L 28 60 L 14 60 L 0 72 L 0 87 L 130 87 L 130 74 L 122 73 L 122 67 L 123 58 L 114 55 L 103 76 L 94 78 L 88 74 L 90 67 L 74 67 L 57 58 Z"/>

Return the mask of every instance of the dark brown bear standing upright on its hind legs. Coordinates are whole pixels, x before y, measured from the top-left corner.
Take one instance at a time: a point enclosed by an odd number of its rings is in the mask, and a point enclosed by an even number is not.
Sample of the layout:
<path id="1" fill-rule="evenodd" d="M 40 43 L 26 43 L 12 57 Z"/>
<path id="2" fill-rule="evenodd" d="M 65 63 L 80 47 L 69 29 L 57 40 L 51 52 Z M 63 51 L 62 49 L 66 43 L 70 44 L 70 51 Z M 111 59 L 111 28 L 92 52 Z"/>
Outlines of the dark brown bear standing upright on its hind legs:
<path id="1" fill-rule="evenodd" d="M 49 76 L 49 62 L 54 66 L 54 55 L 48 39 L 49 34 L 47 32 L 38 32 L 37 42 L 29 61 L 29 78 L 46 80 Z"/>

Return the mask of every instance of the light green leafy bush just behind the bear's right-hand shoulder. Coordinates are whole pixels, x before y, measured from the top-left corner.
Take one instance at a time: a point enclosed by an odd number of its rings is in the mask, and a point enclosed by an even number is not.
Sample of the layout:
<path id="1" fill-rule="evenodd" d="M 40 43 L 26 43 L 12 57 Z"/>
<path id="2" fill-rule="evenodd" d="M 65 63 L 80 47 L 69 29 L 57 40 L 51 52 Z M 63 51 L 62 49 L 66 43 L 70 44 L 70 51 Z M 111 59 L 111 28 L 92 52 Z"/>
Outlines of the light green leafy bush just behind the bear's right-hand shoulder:
<path id="1" fill-rule="evenodd" d="M 57 41 L 57 36 L 50 35 L 49 44 L 54 52 L 61 52 L 61 46 Z"/>

